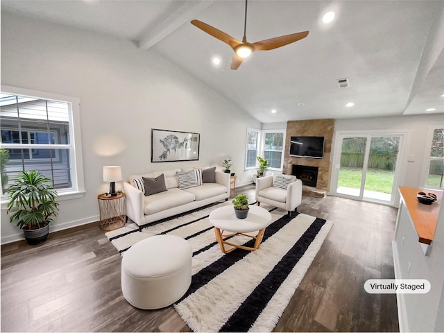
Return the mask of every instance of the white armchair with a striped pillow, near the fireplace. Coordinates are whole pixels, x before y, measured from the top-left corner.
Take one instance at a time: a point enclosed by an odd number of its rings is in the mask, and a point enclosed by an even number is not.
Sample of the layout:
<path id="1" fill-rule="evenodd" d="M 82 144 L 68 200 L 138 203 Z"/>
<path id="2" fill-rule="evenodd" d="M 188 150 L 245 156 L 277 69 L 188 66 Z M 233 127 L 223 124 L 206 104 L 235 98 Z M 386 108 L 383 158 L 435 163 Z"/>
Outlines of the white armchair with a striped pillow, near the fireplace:
<path id="1" fill-rule="evenodd" d="M 256 201 L 282 208 L 289 212 L 296 212 L 302 202 L 302 181 L 296 179 L 290 182 L 287 189 L 273 187 L 273 176 L 260 177 L 256 180 Z"/>

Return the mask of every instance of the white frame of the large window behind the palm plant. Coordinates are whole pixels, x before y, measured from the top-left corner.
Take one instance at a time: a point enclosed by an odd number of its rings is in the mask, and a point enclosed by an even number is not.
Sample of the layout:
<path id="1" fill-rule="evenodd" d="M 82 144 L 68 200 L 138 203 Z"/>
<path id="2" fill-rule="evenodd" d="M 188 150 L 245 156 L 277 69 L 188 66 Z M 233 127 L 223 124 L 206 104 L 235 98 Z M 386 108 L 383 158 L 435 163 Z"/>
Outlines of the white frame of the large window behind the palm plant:
<path id="1" fill-rule="evenodd" d="M 4 94 L 67 102 L 71 105 L 71 112 L 69 112 L 70 144 L 67 145 L 66 148 L 69 148 L 71 151 L 72 187 L 69 189 L 58 189 L 57 191 L 59 200 L 81 198 L 83 194 L 85 194 L 85 182 L 83 173 L 82 139 L 80 135 L 80 99 L 72 96 L 40 92 L 7 85 L 1 85 L 1 92 Z M 48 145 L 33 145 L 31 148 L 48 148 Z M 8 198 L 1 198 L 2 208 L 3 205 L 6 207 L 7 202 Z"/>

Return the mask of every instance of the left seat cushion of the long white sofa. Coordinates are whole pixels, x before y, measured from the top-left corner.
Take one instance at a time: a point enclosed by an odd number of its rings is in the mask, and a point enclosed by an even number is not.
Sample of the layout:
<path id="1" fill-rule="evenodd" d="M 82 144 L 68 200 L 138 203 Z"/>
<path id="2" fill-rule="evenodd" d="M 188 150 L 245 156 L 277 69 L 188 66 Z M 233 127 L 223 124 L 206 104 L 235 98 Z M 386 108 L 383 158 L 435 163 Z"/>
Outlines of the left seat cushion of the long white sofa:
<path id="1" fill-rule="evenodd" d="M 144 197 L 144 214 L 154 214 L 192 201 L 194 201 L 194 194 L 181 189 L 167 189 L 167 191 Z"/>

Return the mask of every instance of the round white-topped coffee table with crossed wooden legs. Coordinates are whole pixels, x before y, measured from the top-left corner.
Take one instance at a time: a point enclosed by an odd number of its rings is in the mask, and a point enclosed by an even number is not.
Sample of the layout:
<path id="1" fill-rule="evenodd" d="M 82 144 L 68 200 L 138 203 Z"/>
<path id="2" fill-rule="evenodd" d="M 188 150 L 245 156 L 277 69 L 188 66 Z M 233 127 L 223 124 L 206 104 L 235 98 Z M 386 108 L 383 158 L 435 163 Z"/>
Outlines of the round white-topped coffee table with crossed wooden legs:
<path id="1" fill-rule="evenodd" d="M 265 228 L 271 223 L 271 214 L 268 210 L 262 207 L 250 205 L 250 210 L 246 219 L 237 219 L 234 214 L 233 206 L 225 206 L 217 208 L 210 213 L 210 223 L 214 225 L 214 233 L 216 234 L 216 241 L 221 246 L 223 253 L 229 253 L 236 248 L 243 248 L 244 250 L 254 251 L 259 248 L 262 237 L 264 237 Z M 230 234 L 223 234 L 224 231 Z M 256 236 L 246 234 L 246 232 L 257 232 Z M 238 245 L 225 241 L 228 237 L 241 234 L 247 237 L 256 239 L 255 246 L 248 247 Z M 233 246 L 229 250 L 225 250 L 225 244 Z"/>

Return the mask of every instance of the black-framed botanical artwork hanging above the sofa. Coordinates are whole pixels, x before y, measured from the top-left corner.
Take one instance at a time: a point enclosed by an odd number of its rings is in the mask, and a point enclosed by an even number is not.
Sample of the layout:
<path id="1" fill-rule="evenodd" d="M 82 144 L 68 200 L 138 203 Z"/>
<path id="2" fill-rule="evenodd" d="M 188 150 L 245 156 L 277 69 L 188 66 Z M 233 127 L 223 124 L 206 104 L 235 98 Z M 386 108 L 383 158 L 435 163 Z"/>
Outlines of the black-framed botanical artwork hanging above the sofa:
<path id="1" fill-rule="evenodd" d="M 151 162 L 196 161 L 200 134 L 151 129 Z"/>

